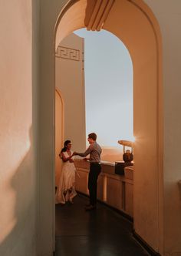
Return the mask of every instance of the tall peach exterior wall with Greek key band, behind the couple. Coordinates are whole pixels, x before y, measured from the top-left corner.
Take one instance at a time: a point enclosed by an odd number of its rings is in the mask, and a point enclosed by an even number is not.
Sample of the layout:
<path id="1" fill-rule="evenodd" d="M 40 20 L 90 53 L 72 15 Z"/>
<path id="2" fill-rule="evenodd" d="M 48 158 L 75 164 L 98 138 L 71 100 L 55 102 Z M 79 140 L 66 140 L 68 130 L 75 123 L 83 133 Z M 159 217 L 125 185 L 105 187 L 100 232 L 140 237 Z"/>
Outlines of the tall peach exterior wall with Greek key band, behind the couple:
<path id="1" fill-rule="evenodd" d="M 59 46 L 55 86 L 64 99 L 64 140 L 71 140 L 72 150 L 81 152 L 86 147 L 84 39 L 72 33 Z"/>

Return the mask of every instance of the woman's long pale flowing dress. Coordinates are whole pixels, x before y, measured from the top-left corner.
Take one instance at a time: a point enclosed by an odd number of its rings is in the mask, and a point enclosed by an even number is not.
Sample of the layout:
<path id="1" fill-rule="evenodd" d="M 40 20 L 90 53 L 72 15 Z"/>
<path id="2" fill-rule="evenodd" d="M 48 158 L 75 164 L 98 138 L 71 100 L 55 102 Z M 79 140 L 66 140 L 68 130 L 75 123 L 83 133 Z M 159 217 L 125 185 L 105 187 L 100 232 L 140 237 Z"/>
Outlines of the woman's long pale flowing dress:
<path id="1" fill-rule="evenodd" d="M 70 157 L 67 152 L 63 153 L 64 157 Z M 72 153 L 71 151 L 71 154 Z M 61 177 L 55 194 L 56 204 L 65 204 L 66 201 L 71 201 L 72 198 L 77 195 L 74 189 L 75 171 L 74 163 L 70 163 L 69 161 L 63 162 Z"/>

